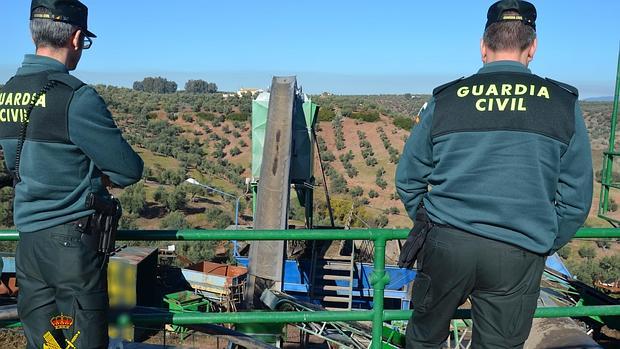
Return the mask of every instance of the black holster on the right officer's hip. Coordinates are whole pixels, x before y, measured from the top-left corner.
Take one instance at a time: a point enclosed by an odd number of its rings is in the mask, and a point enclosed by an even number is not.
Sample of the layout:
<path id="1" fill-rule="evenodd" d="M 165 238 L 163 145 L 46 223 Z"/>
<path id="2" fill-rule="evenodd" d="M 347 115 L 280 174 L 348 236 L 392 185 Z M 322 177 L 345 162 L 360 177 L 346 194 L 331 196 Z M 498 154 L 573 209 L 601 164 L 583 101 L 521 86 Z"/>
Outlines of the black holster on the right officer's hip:
<path id="1" fill-rule="evenodd" d="M 428 217 L 426 208 L 420 203 L 416 212 L 415 221 L 413 222 L 413 228 L 411 228 L 409 236 L 407 236 L 407 241 L 405 241 L 405 244 L 400 249 L 400 256 L 398 257 L 399 267 L 407 269 L 413 268 L 424 246 L 426 236 L 434 226 L 435 224 Z"/>

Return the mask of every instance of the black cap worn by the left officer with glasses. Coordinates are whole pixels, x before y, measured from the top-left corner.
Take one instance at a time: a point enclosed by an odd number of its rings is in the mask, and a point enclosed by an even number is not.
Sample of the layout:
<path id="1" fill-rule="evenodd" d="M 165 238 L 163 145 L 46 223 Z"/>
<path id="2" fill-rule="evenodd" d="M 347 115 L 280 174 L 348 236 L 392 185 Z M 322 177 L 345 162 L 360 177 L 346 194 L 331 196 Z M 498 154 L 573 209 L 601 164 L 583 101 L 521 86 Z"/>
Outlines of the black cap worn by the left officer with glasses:
<path id="1" fill-rule="evenodd" d="M 34 14 L 37 7 L 45 7 L 51 15 Z M 79 27 L 84 35 L 96 38 L 97 35 L 88 31 L 88 7 L 78 0 L 32 0 L 30 5 L 30 19 L 50 19 L 57 22 L 65 22 Z"/>

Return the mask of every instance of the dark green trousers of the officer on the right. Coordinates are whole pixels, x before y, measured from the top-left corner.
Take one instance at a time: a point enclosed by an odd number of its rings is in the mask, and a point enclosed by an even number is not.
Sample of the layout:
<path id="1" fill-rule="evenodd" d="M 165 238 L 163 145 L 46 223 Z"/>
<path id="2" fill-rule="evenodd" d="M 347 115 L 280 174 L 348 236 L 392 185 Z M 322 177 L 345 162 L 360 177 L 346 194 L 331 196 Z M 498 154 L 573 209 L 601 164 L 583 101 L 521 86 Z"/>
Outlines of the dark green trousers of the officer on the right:
<path id="1" fill-rule="evenodd" d="M 545 257 L 464 231 L 434 227 L 418 260 L 407 349 L 440 348 L 455 310 L 472 304 L 471 348 L 522 348 Z"/>

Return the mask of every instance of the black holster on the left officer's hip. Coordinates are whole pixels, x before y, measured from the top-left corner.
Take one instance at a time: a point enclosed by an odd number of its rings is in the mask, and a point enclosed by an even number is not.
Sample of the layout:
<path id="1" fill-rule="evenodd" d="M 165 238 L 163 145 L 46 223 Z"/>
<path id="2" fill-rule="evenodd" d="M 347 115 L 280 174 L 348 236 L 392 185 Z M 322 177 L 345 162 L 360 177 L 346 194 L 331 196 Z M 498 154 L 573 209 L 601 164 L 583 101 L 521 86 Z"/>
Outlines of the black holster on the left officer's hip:
<path id="1" fill-rule="evenodd" d="M 88 218 L 81 240 L 85 246 L 109 256 L 114 252 L 116 231 L 123 213 L 121 203 L 114 197 L 102 197 L 93 193 L 86 197 L 86 208 L 95 210 Z"/>

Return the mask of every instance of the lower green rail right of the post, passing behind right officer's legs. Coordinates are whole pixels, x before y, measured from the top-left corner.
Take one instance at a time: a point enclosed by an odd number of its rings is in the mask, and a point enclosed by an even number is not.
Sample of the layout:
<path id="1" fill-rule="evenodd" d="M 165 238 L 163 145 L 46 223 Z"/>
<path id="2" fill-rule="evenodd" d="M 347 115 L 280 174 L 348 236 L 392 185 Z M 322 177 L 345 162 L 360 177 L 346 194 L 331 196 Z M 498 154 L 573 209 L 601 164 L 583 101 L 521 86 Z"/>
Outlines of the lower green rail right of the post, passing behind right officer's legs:
<path id="1" fill-rule="evenodd" d="M 554 318 L 554 317 L 586 317 L 586 316 L 618 316 L 620 315 L 620 305 L 596 305 L 596 306 L 576 306 L 576 307 L 543 307 L 537 308 L 534 313 L 535 318 Z M 411 310 L 385 310 L 383 319 L 408 320 L 411 317 Z M 458 309 L 454 314 L 454 319 L 471 319 L 471 310 Z"/>

